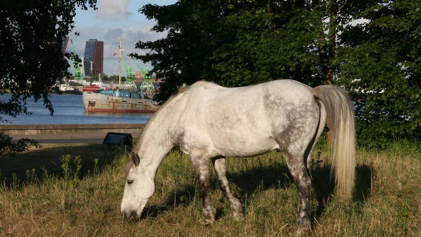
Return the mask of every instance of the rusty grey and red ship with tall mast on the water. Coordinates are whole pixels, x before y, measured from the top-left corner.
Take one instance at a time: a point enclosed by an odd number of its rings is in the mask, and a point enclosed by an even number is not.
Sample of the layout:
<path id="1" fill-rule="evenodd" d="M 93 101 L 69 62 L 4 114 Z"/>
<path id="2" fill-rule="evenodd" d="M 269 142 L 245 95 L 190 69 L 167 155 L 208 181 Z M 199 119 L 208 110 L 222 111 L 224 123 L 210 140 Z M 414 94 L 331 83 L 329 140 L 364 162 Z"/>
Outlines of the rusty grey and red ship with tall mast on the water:
<path id="1" fill-rule="evenodd" d="M 138 90 L 133 82 L 131 70 L 123 85 L 121 85 L 121 37 L 119 47 L 119 82 L 118 87 L 93 86 L 83 91 L 82 99 L 85 111 L 87 112 L 132 112 L 132 113 L 153 113 L 159 106 L 144 92 Z"/>

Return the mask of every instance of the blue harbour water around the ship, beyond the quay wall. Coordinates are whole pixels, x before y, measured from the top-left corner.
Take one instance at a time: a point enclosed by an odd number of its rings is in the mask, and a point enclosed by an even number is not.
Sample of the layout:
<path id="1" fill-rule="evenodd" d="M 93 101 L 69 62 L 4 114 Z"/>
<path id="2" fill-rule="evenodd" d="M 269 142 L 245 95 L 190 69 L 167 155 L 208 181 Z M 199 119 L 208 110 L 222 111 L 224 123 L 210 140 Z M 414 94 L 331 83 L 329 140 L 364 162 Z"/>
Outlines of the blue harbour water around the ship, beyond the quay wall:
<path id="1" fill-rule="evenodd" d="M 7 101 L 10 94 L 0 95 L 0 100 Z M 19 114 L 16 118 L 0 114 L 11 123 L 0 124 L 144 124 L 151 113 L 99 113 L 85 112 L 81 95 L 51 95 L 54 115 L 43 105 L 42 101 L 34 103 L 27 100 L 28 111 L 32 114 Z"/>

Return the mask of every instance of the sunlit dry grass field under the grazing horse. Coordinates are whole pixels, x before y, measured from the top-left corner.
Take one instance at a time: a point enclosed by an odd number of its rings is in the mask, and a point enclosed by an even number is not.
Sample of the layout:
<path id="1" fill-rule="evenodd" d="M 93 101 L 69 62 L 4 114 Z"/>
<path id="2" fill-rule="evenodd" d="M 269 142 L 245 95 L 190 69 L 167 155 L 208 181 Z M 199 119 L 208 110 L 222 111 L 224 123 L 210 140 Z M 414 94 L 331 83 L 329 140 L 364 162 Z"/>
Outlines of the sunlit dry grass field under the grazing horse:
<path id="1" fill-rule="evenodd" d="M 310 198 L 313 235 L 420 236 L 420 150 L 408 143 L 383 151 L 359 149 L 354 199 L 344 203 L 334 194 L 327 152 L 318 148 Z M 159 168 L 143 218 L 124 221 L 119 205 L 127 152 L 112 154 L 105 161 L 95 152 L 72 155 L 70 161 L 63 157 L 61 175 L 37 169 L 28 170 L 24 180 L 9 177 L 0 186 L 0 235 L 279 236 L 296 230 L 297 189 L 280 153 L 227 159 L 231 188 L 246 210 L 240 222 L 231 218 L 211 169 L 217 222 L 209 227 L 199 222 L 201 199 L 189 157 L 178 151 Z"/>

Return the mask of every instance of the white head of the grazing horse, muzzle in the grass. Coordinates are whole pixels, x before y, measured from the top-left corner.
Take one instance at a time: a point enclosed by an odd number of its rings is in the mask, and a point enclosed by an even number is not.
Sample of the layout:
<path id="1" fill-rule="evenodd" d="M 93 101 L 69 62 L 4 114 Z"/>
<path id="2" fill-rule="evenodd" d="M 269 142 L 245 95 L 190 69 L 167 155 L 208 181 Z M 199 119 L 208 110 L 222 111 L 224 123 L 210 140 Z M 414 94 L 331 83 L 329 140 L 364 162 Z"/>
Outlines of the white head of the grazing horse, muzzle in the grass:
<path id="1" fill-rule="evenodd" d="M 139 155 L 132 152 L 129 163 L 125 167 L 125 185 L 121 200 L 121 213 L 126 218 L 132 215 L 139 219 L 143 208 L 155 191 L 155 182 L 140 165 Z"/>

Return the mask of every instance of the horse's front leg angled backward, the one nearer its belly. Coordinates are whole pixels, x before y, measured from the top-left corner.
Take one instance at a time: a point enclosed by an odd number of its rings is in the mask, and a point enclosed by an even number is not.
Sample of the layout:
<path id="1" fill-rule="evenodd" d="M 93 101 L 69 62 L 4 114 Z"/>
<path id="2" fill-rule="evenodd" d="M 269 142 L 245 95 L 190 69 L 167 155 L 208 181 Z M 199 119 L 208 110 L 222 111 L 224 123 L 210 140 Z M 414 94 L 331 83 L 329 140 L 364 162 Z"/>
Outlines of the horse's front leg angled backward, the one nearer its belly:
<path id="1" fill-rule="evenodd" d="M 232 194 L 231 189 L 228 184 L 227 179 L 227 165 L 225 157 L 214 157 L 212 159 L 212 162 L 214 163 L 215 172 L 218 176 L 219 185 L 224 192 L 225 196 L 227 197 L 228 201 L 230 202 L 230 208 L 232 211 L 232 214 L 234 216 L 234 219 L 241 220 L 244 219 L 244 209 L 241 207 L 240 201 L 235 198 L 235 196 Z"/>

